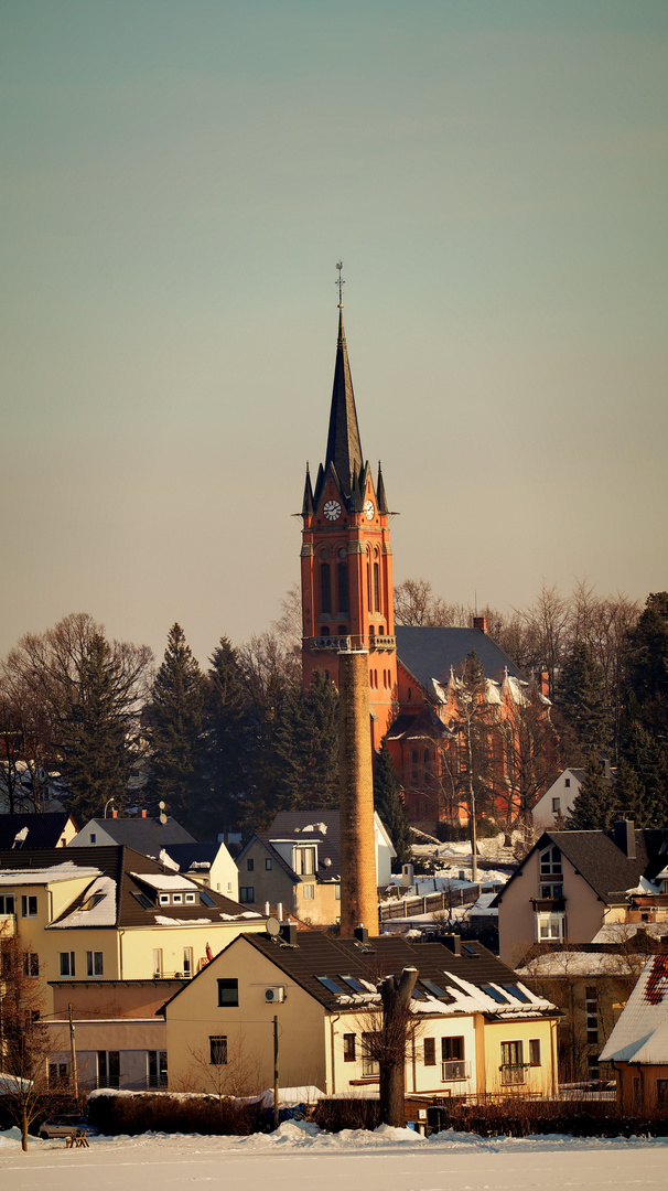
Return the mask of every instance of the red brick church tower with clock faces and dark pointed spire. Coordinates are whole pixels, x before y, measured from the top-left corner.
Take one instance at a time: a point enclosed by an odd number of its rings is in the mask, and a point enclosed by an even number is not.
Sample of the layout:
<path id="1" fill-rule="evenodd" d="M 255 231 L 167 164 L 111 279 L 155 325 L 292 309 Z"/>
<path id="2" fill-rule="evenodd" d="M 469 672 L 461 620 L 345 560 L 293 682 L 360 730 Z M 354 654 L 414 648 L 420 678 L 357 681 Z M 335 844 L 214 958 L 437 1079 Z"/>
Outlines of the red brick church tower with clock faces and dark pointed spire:
<path id="1" fill-rule="evenodd" d="M 308 468 L 301 516 L 304 686 L 324 671 L 338 686 L 338 654 L 368 651 L 372 746 L 380 748 L 394 717 L 397 649 L 392 548 L 382 472 L 364 462 L 338 304 L 338 342 L 325 462 L 312 486 Z"/>

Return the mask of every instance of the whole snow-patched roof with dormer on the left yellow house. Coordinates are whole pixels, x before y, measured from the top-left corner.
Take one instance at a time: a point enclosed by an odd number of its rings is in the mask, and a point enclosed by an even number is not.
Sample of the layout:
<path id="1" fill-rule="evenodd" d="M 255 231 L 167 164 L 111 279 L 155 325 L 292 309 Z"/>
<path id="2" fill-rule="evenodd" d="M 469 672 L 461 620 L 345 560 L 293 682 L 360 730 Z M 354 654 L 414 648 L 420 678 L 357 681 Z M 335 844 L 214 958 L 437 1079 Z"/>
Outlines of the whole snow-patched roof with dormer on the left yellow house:
<path id="1" fill-rule="evenodd" d="M 63 861 L 63 858 L 67 860 Z M 82 892 L 46 928 L 49 930 L 188 923 L 219 925 L 223 922 L 261 917 L 214 890 L 202 890 L 188 878 L 176 875 L 174 869 L 119 844 L 93 844 L 71 852 L 64 848 L 0 852 L 0 878 L 4 885 L 12 880 L 19 885 L 21 871 L 25 871 L 26 880 L 30 878 L 32 884 L 76 877 L 87 879 Z M 196 892 L 195 904 L 160 905 L 160 890 L 167 890 L 168 886 L 174 888 L 175 880 L 182 883 L 183 890 Z"/>

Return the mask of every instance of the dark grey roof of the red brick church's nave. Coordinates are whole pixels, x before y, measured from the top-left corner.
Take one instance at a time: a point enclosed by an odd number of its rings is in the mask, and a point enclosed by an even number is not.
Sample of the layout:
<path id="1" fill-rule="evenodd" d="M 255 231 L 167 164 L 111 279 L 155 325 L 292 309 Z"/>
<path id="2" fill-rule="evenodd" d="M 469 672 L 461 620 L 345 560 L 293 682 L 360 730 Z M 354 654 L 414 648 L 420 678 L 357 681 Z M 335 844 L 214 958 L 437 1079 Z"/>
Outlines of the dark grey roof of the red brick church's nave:
<path id="1" fill-rule="evenodd" d="M 450 667 L 456 674 L 474 649 L 485 667 L 486 678 L 500 681 L 506 667 L 508 674 L 514 678 L 522 676 L 505 650 L 481 629 L 398 625 L 395 632 L 399 660 L 427 690 L 432 678 L 437 682 L 447 682 Z"/>

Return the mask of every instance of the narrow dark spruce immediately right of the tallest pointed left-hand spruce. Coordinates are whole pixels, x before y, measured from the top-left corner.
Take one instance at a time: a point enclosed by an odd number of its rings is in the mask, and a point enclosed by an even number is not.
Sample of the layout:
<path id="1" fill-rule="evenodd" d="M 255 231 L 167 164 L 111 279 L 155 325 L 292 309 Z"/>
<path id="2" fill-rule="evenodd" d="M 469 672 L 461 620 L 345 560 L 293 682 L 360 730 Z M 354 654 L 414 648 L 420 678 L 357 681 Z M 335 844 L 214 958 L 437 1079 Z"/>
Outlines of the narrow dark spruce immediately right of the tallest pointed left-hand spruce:
<path id="1" fill-rule="evenodd" d="M 212 836 L 238 825 L 239 798 L 246 782 L 246 731 L 237 653 L 230 640 L 221 637 L 211 657 L 204 705 L 207 805 L 202 805 L 202 818 L 208 818 Z"/>

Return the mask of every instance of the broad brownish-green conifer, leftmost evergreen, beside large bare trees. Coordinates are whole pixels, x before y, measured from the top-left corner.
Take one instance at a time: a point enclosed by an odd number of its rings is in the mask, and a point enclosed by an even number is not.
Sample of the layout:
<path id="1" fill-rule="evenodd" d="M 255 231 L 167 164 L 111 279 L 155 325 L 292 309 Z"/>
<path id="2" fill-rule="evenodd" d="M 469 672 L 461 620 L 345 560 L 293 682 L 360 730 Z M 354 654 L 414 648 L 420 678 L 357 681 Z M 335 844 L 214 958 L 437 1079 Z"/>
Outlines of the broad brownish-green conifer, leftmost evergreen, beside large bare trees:
<path id="1" fill-rule="evenodd" d="M 86 642 L 79 661 L 71 701 L 61 713 L 56 732 L 60 768 L 69 796 L 68 810 L 81 823 L 100 812 L 110 798 L 120 809 L 132 754 L 129 722 L 116 697 L 120 662 L 104 636 Z"/>

